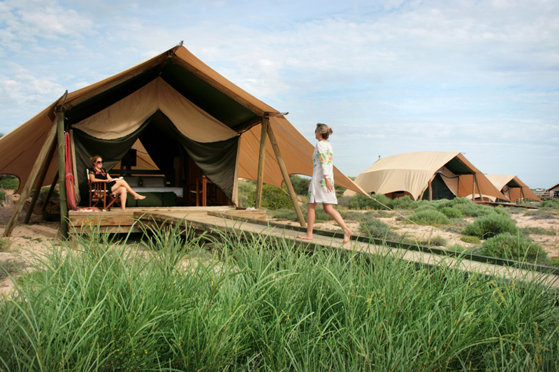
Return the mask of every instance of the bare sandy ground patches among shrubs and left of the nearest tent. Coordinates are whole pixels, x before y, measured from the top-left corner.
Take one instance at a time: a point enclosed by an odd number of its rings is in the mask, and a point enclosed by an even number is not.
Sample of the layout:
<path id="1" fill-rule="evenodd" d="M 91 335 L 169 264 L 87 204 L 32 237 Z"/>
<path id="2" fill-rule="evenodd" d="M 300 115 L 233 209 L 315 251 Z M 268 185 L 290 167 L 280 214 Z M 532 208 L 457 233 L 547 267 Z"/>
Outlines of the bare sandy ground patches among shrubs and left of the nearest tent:
<path id="1" fill-rule="evenodd" d="M 8 201 L 5 201 L 0 206 L 0 233 L 3 234 L 6 224 L 15 208 L 18 195 L 11 195 L 8 191 Z M 44 222 L 41 215 L 34 213 L 31 216 L 30 224 L 23 224 L 25 212 L 29 201 L 24 206 L 24 210 L 20 213 L 19 222 L 15 225 L 15 229 L 10 237 L 1 238 L 4 242 L 4 248 L 0 248 L 0 264 L 2 262 L 17 262 L 22 267 L 31 266 L 33 255 L 42 255 L 46 252 L 47 247 L 59 241 L 59 222 Z M 56 211 L 59 208 L 54 203 L 48 209 Z M 40 208 L 36 207 L 36 210 Z M 528 212 L 528 213 L 526 213 Z M 406 236 L 412 241 L 431 241 L 434 238 L 440 237 L 447 242 L 446 247 L 453 245 L 462 245 L 464 248 L 474 246 L 471 243 L 465 243 L 460 240 L 460 233 L 449 231 L 448 227 L 431 227 L 412 224 L 409 222 L 399 220 L 398 215 L 391 213 L 391 217 L 379 217 L 379 220 L 389 224 L 393 231 L 401 236 Z M 544 231 L 544 234 L 530 234 L 533 241 L 542 245 L 548 252 L 550 258 L 559 258 L 559 216 L 554 215 L 551 217 L 538 217 L 537 215 L 530 215 L 529 211 L 523 210 L 521 213 L 514 213 L 511 217 L 516 221 L 519 228 L 538 228 Z M 467 222 L 471 222 L 469 220 Z M 285 222 L 289 224 L 298 224 L 296 222 Z M 358 222 L 347 221 L 350 229 L 356 234 L 359 234 Z M 333 221 L 321 222 L 315 224 L 315 228 L 324 230 L 340 230 L 340 228 Z M 461 227 L 453 229 L 461 231 Z M 11 278 L 4 278 L 0 280 L 0 295 L 7 294 L 13 288 Z"/>

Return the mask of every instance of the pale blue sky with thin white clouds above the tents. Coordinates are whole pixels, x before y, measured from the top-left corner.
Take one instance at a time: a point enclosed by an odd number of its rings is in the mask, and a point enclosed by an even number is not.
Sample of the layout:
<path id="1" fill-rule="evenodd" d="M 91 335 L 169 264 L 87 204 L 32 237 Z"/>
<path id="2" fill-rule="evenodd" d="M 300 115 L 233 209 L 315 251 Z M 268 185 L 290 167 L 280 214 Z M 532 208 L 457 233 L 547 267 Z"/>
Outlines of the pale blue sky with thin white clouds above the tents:
<path id="1" fill-rule="evenodd" d="M 462 152 L 559 183 L 557 0 L 0 1 L 0 133 L 184 47 L 358 176 L 379 157 Z"/>

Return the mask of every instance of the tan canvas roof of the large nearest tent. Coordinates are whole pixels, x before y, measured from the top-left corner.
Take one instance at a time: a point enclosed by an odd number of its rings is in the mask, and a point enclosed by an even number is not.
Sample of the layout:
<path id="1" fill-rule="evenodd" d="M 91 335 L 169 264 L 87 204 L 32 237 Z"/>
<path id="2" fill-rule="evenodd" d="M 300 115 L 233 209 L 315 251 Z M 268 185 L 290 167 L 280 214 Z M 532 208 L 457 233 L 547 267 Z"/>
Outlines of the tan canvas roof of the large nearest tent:
<path id="1" fill-rule="evenodd" d="M 0 173 L 20 178 L 20 189 L 26 183 L 53 126 L 60 104 L 60 100 L 52 103 L 0 138 Z M 101 146 L 108 141 L 119 141 L 130 147 L 141 136 L 149 140 L 145 128 L 147 124 L 156 123 L 159 126 L 157 134 L 165 133 L 166 138 L 175 136 L 182 142 L 194 144 L 198 155 L 234 148 L 236 155 L 233 154 L 232 158 L 229 156 L 231 152 L 224 159 L 217 154 L 210 159 L 211 162 L 237 162 L 238 168 L 227 177 L 250 179 L 256 179 L 262 119 L 268 113 L 277 113 L 274 108 L 210 69 L 182 45 L 115 76 L 68 93 L 64 110 L 66 126 L 69 125 L 77 134 L 74 137 L 81 138 L 78 142 L 82 141 L 82 150 L 89 154 L 94 151 L 94 145 Z M 277 138 L 288 173 L 311 176 L 313 146 L 283 116 L 270 117 L 270 127 Z M 142 143 L 148 148 L 145 141 L 142 140 Z M 76 148 L 79 146 L 79 143 L 76 144 Z M 151 148 L 160 152 L 168 150 L 166 143 L 153 142 Z M 148 149 L 153 156 L 152 150 Z M 121 153 L 100 155 L 104 159 L 112 159 L 105 164 L 106 168 L 117 164 L 122 157 Z M 76 159 L 76 162 L 87 163 L 87 159 Z M 219 172 L 224 169 L 225 163 L 206 166 L 212 166 L 215 172 Z M 54 178 L 57 170 L 55 155 L 44 184 Z M 81 173 L 78 171 L 78 176 Z M 337 185 L 363 192 L 337 169 L 335 178 Z M 263 181 L 277 187 L 281 187 L 283 182 L 269 139 Z"/>

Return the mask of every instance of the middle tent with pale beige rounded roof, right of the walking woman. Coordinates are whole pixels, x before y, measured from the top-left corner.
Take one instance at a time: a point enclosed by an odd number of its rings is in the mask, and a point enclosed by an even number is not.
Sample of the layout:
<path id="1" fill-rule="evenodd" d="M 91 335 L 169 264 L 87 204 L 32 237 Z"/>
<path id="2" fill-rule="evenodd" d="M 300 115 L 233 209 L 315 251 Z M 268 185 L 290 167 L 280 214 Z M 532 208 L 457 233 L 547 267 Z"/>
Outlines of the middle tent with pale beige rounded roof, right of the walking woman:
<path id="1" fill-rule="evenodd" d="M 391 199 L 405 195 L 414 200 L 453 199 L 472 197 L 473 193 L 474 199 L 493 196 L 508 200 L 460 152 L 409 152 L 384 157 L 357 176 L 355 183 L 368 193 Z M 349 190 L 344 193 L 352 194 Z"/>

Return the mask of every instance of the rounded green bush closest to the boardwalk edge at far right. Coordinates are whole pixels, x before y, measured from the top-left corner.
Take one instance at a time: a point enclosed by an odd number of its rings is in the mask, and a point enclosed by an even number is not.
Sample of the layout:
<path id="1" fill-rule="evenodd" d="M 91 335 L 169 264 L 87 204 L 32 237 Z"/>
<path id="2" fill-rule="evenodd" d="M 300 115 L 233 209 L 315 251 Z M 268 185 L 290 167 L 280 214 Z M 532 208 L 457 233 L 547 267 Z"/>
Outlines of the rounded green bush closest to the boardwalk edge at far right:
<path id="1" fill-rule="evenodd" d="M 545 262 L 547 259 L 547 252 L 541 245 L 530 241 L 520 233 L 501 233 L 488 238 L 479 253 L 514 261 Z"/>

